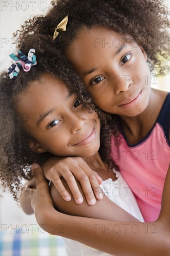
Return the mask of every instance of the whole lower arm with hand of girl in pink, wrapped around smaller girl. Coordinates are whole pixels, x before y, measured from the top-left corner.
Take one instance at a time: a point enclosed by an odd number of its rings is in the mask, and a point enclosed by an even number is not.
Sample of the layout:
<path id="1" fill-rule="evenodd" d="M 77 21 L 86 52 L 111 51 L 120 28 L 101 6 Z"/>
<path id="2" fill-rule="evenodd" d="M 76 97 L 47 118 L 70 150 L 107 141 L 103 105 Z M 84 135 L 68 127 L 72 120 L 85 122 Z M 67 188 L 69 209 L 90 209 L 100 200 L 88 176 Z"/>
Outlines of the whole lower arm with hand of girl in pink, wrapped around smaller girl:
<path id="1" fill-rule="evenodd" d="M 35 173 L 37 188 L 46 186 L 48 190 L 41 169 L 36 169 Z M 44 224 L 52 235 L 67 237 L 109 254 L 170 255 L 170 167 L 164 184 L 161 212 L 156 222 L 120 222 L 69 216 L 54 209 L 49 193 L 46 197 L 40 197 L 38 193 L 35 195 L 31 198 L 31 204 L 37 222 Z M 43 205 L 43 209 L 40 205 Z"/>

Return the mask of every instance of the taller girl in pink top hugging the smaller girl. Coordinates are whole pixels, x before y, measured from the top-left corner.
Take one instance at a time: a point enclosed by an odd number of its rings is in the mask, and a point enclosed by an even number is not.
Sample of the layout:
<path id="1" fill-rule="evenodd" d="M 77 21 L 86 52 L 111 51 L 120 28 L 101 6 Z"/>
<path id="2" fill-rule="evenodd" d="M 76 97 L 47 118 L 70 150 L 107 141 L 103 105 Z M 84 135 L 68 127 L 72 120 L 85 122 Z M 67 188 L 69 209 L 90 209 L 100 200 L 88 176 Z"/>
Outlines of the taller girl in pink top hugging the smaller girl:
<path id="1" fill-rule="evenodd" d="M 50 228 L 52 223 L 65 223 L 65 237 L 72 233 L 72 239 L 110 254 L 169 255 L 170 94 L 151 88 L 153 69 L 161 75 L 167 71 L 168 11 L 162 0 L 54 1 L 45 17 L 34 18 L 31 25 L 25 23 L 28 27 L 20 37 L 21 44 L 22 36 L 29 36 L 32 31 L 50 38 L 66 15 L 69 19 L 67 29 L 60 33 L 56 47 L 67 55 L 96 105 L 113 114 L 120 131 L 119 140 L 114 139 L 114 134 L 112 137 L 113 161 L 119 165 L 120 173 L 135 194 L 145 221 L 152 222 L 153 226 L 144 227 L 139 223 L 139 232 L 134 236 L 131 230 L 128 238 L 128 231 L 119 237 L 116 232 L 110 234 L 101 230 L 94 234 L 94 224 L 102 227 L 123 225 L 123 222 L 75 219 L 57 213 L 49 195 L 42 198 L 37 193 L 31 201 L 38 223 L 45 223 L 48 231 L 56 235 L 57 231 Z M 86 187 L 83 190 L 88 203 L 95 203 L 89 184 L 92 183 L 95 190 L 97 182 L 92 171 L 83 168 L 82 160 L 62 159 L 61 165 L 58 159 L 50 159 L 43 169 L 57 189 L 65 188 L 59 179 L 63 176 L 75 201 L 81 203 L 82 195 L 75 185 L 73 173 L 83 188 Z M 45 186 L 40 170 L 38 174 L 38 186 Z M 95 195 L 101 199 L 99 194 Z M 62 196 L 66 201 L 71 199 L 68 189 L 63 190 Z M 42 220 L 38 201 L 46 203 L 53 217 L 44 210 L 43 214 L 49 218 Z"/>

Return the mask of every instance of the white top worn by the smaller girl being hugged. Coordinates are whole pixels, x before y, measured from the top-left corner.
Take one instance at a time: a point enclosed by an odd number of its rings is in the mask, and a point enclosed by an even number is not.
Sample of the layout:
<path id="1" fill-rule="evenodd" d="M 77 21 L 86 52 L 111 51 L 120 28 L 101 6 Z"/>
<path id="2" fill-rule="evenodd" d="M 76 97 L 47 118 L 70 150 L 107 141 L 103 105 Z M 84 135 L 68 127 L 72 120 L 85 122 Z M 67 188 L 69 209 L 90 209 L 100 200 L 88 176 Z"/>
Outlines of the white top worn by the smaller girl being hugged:
<path id="1" fill-rule="evenodd" d="M 103 181 L 100 185 L 101 189 L 112 202 L 116 203 L 122 209 L 130 213 L 132 216 L 139 219 L 139 221 L 144 222 L 144 218 L 140 212 L 139 206 L 131 189 L 128 187 L 120 172 L 115 171 L 114 169 L 113 172 L 115 173 L 117 180 L 113 181 L 112 179 L 107 179 L 106 181 Z M 70 240 L 67 238 L 63 238 L 63 240 L 68 255 L 110 255 L 82 243 L 76 242 L 74 240 Z"/>

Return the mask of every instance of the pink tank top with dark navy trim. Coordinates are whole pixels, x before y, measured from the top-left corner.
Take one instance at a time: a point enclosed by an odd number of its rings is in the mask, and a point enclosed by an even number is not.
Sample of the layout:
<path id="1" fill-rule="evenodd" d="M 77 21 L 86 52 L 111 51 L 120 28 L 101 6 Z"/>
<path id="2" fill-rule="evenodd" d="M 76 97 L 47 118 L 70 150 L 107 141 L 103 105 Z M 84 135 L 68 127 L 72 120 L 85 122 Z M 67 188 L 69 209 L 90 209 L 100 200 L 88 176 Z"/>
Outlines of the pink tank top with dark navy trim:
<path id="1" fill-rule="evenodd" d="M 135 145 L 128 145 L 121 133 L 120 146 L 114 145 L 112 159 L 135 195 L 145 222 L 157 219 L 165 176 L 170 165 L 170 93 L 167 94 L 154 127 Z"/>

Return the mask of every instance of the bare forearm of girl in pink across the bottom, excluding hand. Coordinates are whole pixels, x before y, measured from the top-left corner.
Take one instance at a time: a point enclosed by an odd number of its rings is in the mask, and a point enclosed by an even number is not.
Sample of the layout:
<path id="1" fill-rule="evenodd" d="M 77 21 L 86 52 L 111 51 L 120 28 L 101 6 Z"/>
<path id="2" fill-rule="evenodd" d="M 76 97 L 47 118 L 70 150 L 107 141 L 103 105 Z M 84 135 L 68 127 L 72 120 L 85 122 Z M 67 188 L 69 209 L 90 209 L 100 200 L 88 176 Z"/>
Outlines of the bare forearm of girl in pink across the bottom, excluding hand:
<path id="1" fill-rule="evenodd" d="M 169 229 L 160 222 L 113 222 L 50 211 L 48 232 L 87 244 L 112 255 L 168 256 Z M 57 225 L 55 225 L 57 223 Z M 42 223 L 43 224 L 43 223 Z"/>

